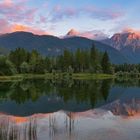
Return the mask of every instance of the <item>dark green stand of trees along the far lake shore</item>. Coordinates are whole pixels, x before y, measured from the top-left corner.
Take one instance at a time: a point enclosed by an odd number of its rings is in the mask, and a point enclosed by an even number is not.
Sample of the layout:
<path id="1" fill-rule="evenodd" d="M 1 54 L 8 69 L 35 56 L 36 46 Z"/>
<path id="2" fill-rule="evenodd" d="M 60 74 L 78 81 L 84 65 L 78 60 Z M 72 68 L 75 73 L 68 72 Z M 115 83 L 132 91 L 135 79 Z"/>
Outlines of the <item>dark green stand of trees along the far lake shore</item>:
<path id="1" fill-rule="evenodd" d="M 113 68 L 107 52 L 99 52 L 94 44 L 90 50 L 64 50 L 63 54 L 57 57 L 44 57 L 36 50 L 28 52 L 23 48 L 11 51 L 8 56 L 0 56 L 0 75 L 47 72 L 111 74 Z"/>

